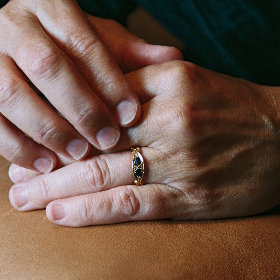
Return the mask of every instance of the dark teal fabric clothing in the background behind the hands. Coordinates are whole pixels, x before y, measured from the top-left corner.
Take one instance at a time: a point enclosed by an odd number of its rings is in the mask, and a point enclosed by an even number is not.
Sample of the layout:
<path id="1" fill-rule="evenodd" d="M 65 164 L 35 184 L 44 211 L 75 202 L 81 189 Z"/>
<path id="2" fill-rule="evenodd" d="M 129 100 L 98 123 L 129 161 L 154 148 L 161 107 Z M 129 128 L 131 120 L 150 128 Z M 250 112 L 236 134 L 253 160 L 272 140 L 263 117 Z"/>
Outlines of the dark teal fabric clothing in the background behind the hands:
<path id="1" fill-rule="evenodd" d="M 78 2 L 86 12 L 122 24 L 129 12 L 142 6 L 185 43 L 185 60 L 259 84 L 280 86 L 279 0 Z"/>

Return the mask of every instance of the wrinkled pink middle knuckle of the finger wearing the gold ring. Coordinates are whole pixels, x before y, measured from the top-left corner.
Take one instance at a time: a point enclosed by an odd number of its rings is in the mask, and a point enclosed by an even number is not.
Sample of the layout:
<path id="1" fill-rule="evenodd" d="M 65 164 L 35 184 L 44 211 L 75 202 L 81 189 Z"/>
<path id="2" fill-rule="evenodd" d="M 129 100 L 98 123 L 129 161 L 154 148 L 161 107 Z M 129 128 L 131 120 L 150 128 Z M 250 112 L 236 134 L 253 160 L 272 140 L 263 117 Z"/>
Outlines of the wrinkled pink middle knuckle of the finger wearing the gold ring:
<path id="1" fill-rule="evenodd" d="M 104 158 L 96 156 L 93 159 L 86 161 L 83 170 L 84 180 L 91 191 L 96 189 L 102 191 L 110 187 L 110 170 Z"/>

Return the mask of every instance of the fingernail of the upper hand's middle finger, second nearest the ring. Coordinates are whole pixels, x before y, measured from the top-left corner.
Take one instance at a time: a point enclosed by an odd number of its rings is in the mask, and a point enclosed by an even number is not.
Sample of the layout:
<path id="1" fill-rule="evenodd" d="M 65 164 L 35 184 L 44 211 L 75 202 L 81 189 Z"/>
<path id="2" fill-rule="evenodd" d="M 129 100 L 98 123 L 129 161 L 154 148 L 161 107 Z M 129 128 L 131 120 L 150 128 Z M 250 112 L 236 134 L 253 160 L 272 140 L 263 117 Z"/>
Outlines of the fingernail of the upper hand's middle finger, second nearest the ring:
<path id="1" fill-rule="evenodd" d="M 107 126 L 105 128 L 102 128 L 96 134 L 96 140 L 103 150 L 114 147 L 115 144 L 119 141 L 119 137 L 120 137 L 119 130 L 117 130 L 113 126 Z"/>

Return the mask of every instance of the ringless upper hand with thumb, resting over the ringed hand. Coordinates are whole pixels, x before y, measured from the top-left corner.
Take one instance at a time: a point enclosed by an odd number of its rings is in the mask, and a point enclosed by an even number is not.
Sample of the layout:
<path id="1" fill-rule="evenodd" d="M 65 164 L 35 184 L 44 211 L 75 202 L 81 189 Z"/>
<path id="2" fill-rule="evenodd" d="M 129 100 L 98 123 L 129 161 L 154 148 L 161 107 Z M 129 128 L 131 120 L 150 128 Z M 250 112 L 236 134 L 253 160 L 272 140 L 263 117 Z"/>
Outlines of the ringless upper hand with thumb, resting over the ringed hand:
<path id="1" fill-rule="evenodd" d="M 119 126 L 140 116 L 120 68 L 181 58 L 113 21 L 89 19 L 73 0 L 13 0 L 0 10 L 0 154 L 9 161 L 49 173 L 56 165 L 52 151 L 79 160 L 89 143 L 111 149 Z"/>

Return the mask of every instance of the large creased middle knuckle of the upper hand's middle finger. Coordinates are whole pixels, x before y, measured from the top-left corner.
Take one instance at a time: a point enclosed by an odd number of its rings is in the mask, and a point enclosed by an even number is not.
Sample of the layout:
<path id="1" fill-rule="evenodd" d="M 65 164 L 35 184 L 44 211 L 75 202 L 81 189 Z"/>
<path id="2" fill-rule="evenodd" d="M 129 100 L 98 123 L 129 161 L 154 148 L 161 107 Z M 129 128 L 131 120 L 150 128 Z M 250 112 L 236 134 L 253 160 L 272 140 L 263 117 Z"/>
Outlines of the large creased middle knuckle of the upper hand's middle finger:
<path id="1" fill-rule="evenodd" d="M 38 78 L 55 77 L 61 70 L 62 54 L 44 44 L 32 49 L 26 56 L 26 69 Z"/>

